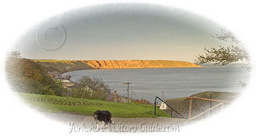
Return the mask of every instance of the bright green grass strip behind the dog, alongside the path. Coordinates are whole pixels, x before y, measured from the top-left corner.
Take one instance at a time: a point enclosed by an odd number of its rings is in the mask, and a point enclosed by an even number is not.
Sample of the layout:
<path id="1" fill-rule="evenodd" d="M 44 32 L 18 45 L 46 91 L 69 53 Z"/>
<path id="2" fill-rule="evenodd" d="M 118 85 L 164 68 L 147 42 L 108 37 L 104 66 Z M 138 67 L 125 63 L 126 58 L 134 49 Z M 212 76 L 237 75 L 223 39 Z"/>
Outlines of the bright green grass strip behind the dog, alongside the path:
<path id="1" fill-rule="evenodd" d="M 155 117 L 153 105 L 135 103 L 116 103 L 94 99 L 49 96 L 41 94 L 17 93 L 28 105 L 50 112 L 66 112 L 77 115 L 93 115 L 96 110 L 108 110 L 113 117 L 137 118 Z M 166 116 L 164 111 L 156 110 L 156 116 Z"/>

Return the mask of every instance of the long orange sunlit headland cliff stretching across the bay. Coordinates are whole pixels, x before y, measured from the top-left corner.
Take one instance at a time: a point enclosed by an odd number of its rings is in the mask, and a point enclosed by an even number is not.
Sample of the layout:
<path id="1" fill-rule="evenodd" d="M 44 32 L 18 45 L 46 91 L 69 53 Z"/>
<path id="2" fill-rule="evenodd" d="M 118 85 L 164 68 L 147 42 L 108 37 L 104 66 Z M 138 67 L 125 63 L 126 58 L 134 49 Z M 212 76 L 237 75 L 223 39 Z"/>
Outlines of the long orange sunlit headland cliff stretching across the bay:
<path id="1" fill-rule="evenodd" d="M 184 61 L 174 60 L 34 60 L 47 71 L 68 72 L 82 69 L 143 69 L 171 67 L 201 67 Z"/>

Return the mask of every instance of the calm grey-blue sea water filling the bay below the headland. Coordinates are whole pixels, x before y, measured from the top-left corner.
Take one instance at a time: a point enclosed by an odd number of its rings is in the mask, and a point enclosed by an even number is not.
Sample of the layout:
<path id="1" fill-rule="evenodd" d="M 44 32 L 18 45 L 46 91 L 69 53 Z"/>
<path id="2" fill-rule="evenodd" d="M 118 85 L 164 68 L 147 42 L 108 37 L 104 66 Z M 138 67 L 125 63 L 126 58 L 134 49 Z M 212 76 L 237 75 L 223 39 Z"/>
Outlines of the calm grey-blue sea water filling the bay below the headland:
<path id="1" fill-rule="evenodd" d="M 198 67 L 164 69 L 109 69 L 82 70 L 65 74 L 76 81 L 81 76 L 102 78 L 111 89 L 126 96 L 130 84 L 132 98 L 154 101 L 154 96 L 164 99 L 181 98 L 204 91 L 223 91 L 241 93 L 239 81 L 249 81 L 250 72 L 243 67 Z"/>

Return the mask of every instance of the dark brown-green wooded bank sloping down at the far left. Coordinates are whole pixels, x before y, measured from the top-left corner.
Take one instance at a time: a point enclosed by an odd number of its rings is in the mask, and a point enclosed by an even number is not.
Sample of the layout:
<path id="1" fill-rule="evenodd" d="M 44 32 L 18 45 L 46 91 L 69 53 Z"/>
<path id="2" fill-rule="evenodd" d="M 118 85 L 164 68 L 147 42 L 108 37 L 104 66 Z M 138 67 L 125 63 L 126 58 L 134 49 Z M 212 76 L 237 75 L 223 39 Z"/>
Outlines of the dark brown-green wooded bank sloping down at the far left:
<path id="1" fill-rule="evenodd" d="M 42 65 L 28 59 L 21 59 L 19 52 L 15 54 L 6 60 L 8 80 L 15 91 L 65 96 L 66 89 L 47 75 Z"/>

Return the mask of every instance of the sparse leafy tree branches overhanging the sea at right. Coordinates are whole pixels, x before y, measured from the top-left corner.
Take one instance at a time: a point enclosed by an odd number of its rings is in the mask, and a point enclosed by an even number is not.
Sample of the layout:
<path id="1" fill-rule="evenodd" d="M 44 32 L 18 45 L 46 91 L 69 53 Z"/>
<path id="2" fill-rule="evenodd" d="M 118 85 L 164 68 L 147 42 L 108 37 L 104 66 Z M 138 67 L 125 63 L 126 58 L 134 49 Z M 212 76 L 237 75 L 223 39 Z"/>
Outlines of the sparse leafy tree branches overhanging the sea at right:
<path id="1" fill-rule="evenodd" d="M 195 59 L 195 64 L 214 63 L 214 65 L 227 65 L 240 60 L 250 62 L 250 56 L 243 43 L 230 31 L 222 29 L 220 32 L 210 36 L 228 42 L 231 45 L 228 47 L 220 46 L 219 48 L 205 47 L 205 54 L 198 55 L 197 59 Z"/>

